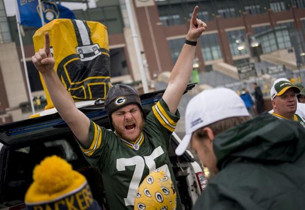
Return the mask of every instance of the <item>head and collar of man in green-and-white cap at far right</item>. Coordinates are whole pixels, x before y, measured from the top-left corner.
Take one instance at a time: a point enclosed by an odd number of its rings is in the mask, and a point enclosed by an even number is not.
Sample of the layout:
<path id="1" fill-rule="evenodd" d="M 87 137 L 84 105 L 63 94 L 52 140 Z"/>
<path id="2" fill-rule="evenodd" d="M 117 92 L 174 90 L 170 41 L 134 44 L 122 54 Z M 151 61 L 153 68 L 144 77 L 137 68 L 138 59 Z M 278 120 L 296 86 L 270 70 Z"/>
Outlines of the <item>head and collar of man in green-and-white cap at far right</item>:
<path id="1" fill-rule="evenodd" d="M 300 92 L 288 79 L 279 78 L 273 82 L 270 89 L 273 116 L 299 122 L 305 128 L 305 119 L 296 114 L 297 99 L 296 94 Z"/>

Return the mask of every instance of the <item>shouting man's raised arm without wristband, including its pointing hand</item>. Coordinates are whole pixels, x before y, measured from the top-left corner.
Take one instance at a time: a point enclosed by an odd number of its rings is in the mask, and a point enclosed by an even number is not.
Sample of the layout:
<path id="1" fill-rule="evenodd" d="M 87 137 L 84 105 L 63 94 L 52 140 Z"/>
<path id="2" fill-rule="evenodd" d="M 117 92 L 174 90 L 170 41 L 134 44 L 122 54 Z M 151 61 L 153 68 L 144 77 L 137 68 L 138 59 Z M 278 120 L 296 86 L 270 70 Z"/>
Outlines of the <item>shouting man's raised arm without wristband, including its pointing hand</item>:
<path id="1" fill-rule="evenodd" d="M 32 61 L 36 69 L 42 74 L 59 115 L 68 124 L 80 143 L 86 146 L 89 143 L 89 118 L 76 108 L 73 99 L 54 70 L 55 61 L 50 52 L 50 37 L 48 33 L 45 34 L 45 47 L 39 49 L 32 56 Z"/>

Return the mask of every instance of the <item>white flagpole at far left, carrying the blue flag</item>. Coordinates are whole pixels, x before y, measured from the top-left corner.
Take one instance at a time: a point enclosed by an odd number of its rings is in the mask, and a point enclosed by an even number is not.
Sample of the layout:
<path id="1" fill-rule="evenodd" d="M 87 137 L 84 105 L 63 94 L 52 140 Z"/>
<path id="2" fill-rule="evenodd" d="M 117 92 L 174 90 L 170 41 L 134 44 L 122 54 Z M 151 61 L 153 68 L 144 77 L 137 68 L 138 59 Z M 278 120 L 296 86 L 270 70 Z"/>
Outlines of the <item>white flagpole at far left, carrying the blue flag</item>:
<path id="1" fill-rule="evenodd" d="M 17 22 L 19 42 L 20 42 L 20 47 L 21 47 L 21 54 L 22 54 L 24 74 L 25 74 L 25 79 L 26 79 L 27 92 L 28 92 L 28 96 L 29 96 L 29 102 L 31 103 L 32 112 L 33 112 L 33 114 L 35 114 L 34 104 L 33 104 L 33 100 L 32 100 L 31 86 L 29 86 L 27 67 L 26 67 L 24 48 L 23 48 L 23 42 L 22 42 L 21 33 L 20 33 L 19 10 L 18 10 L 17 0 L 15 2 L 15 5 L 16 5 L 16 22 Z"/>

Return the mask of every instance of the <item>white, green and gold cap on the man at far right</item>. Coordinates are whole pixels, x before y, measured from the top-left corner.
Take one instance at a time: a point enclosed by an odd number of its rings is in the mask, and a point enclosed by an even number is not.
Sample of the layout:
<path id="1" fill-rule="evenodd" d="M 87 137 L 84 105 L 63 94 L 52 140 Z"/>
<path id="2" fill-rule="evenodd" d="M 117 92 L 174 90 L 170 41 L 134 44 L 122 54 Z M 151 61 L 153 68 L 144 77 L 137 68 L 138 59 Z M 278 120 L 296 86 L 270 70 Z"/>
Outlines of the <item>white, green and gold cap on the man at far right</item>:
<path id="1" fill-rule="evenodd" d="M 273 82 L 273 85 L 270 89 L 270 97 L 273 100 L 276 96 L 281 96 L 284 94 L 287 89 L 293 88 L 295 93 L 299 93 L 300 89 L 293 85 L 288 79 L 280 78 Z"/>

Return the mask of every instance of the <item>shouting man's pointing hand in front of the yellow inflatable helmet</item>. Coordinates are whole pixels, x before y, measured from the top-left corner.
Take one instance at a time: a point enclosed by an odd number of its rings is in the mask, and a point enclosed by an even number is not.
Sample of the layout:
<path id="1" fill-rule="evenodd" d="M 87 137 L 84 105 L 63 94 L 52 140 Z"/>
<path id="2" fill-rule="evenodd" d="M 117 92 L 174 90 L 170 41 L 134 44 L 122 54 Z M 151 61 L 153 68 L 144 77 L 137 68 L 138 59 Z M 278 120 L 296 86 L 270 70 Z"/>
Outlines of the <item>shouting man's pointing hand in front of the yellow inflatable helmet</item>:
<path id="1" fill-rule="evenodd" d="M 53 71 L 55 61 L 50 52 L 50 37 L 48 33 L 45 34 L 45 47 L 39 49 L 39 51 L 32 56 L 32 61 L 36 69 L 42 74 Z"/>

